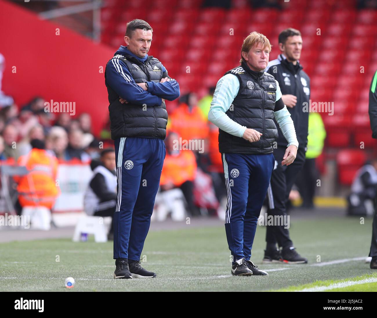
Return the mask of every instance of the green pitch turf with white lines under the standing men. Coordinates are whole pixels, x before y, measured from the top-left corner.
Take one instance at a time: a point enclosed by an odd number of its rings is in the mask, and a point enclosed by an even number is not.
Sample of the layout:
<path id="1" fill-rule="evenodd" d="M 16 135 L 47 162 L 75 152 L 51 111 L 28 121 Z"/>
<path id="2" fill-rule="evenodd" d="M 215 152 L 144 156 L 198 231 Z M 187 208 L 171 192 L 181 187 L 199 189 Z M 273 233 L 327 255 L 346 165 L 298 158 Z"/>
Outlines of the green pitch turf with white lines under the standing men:
<path id="1" fill-rule="evenodd" d="M 200 219 L 192 219 L 200 222 Z M 258 226 L 254 261 L 269 276 L 231 276 L 224 226 L 151 231 L 142 266 L 157 278 L 113 279 L 112 241 L 72 242 L 70 239 L 16 241 L 0 244 L 1 291 L 295 291 L 377 290 L 377 270 L 364 262 L 371 241 L 371 219 L 299 219 L 291 237 L 309 264 L 262 264 L 265 227 Z M 320 262 L 317 262 L 320 257 Z M 58 260 L 58 262 L 57 262 Z M 334 262 L 335 261 L 335 262 Z M 66 289 L 64 280 L 75 279 Z M 339 282 L 357 281 L 351 286 Z M 335 284 L 335 285 L 334 285 Z"/>

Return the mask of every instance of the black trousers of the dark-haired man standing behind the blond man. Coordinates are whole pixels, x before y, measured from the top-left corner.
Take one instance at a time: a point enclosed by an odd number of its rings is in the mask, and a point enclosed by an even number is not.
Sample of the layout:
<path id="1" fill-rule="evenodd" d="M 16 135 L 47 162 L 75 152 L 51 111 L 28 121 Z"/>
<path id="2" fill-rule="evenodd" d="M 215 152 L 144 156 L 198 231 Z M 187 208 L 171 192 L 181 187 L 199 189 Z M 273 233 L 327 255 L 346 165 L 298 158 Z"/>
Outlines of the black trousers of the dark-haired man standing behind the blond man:
<path id="1" fill-rule="evenodd" d="M 274 149 L 275 169 L 272 171 L 270 187 L 267 190 L 268 198 L 268 216 L 286 216 L 287 202 L 291 188 L 296 180 L 296 176 L 305 163 L 305 149 L 297 150 L 296 159 L 289 166 L 282 166 L 286 147 L 277 147 Z M 266 232 L 267 245 L 279 244 L 279 247 L 293 246 L 289 236 L 288 228 L 284 224 L 268 225 Z"/>

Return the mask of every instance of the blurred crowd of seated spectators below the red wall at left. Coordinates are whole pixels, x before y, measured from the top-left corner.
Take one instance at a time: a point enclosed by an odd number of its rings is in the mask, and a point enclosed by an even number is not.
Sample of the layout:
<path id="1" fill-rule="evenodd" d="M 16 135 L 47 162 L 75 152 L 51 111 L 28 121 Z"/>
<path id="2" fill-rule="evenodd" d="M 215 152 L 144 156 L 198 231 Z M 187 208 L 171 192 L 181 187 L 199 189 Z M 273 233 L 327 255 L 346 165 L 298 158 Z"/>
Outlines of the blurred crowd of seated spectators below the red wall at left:
<path id="1" fill-rule="evenodd" d="M 44 111 L 44 99 L 35 97 L 18 109 L 15 103 L 0 110 L 0 159 L 18 160 L 31 150 L 32 139 L 42 140 L 59 161 L 90 162 L 98 157 L 99 141 L 92 134 L 91 118 L 81 113 Z"/>

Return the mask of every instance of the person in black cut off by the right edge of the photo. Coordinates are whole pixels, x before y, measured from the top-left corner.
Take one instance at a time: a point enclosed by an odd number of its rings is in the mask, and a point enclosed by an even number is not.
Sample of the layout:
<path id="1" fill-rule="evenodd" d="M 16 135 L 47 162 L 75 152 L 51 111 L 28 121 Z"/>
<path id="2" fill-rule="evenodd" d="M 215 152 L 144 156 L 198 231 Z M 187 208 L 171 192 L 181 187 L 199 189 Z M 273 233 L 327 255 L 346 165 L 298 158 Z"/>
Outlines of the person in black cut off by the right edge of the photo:
<path id="1" fill-rule="evenodd" d="M 369 91 L 369 118 L 371 120 L 372 137 L 377 139 L 377 71 L 371 83 L 371 90 Z M 372 243 L 369 256 L 372 258 L 370 267 L 377 269 L 377 196 L 374 197 L 374 218 L 372 230 Z"/>

